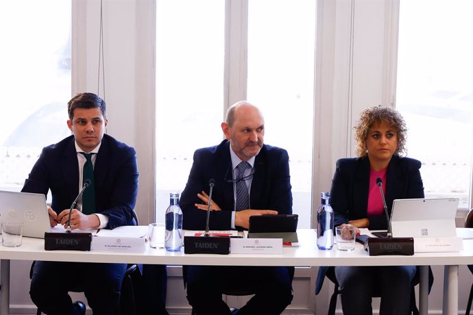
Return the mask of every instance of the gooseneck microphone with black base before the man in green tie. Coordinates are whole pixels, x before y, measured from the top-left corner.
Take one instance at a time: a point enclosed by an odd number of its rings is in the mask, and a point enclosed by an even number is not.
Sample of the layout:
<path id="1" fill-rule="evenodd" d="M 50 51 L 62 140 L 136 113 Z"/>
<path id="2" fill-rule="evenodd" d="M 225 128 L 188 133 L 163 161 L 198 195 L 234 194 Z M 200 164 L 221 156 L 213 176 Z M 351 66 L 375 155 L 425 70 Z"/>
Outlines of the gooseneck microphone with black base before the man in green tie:
<path id="1" fill-rule="evenodd" d="M 84 190 L 90 186 L 90 179 L 84 181 L 84 185 L 77 197 L 69 207 L 69 218 L 67 219 L 66 233 L 45 232 L 45 250 L 71 250 L 71 251 L 90 251 L 90 243 L 92 242 L 92 233 L 90 232 L 74 232 L 71 231 L 71 214 L 77 200 L 82 196 Z"/>

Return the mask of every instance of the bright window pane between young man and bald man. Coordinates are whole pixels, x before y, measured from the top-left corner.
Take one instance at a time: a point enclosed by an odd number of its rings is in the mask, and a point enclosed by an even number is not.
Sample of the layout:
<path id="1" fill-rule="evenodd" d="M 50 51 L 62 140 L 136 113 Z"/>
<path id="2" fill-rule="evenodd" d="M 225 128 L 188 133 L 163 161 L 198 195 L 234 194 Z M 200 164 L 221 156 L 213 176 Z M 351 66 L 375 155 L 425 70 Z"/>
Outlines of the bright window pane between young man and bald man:
<path id="1" fill-rule="evenodd" d="M 184 189 L 195 149 L 222 140 L 224 4 L 156 4 L 156 222 L 169 192 Z"/>

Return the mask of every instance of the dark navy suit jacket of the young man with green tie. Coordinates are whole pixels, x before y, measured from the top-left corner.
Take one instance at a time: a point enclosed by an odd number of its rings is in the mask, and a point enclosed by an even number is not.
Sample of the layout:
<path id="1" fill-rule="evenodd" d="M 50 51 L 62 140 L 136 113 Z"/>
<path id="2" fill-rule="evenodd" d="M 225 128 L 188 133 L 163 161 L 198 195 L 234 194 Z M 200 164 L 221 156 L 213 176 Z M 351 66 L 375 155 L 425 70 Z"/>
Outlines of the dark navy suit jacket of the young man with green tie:
<path id="1" fill-rule="evenodd" d="M 23 192 L 47 194 L 56 212 L 69 209 L 79 192 L 79 162 L 74 137 L 45 147 L 23 186 Z M 104 135 L 94 166 L 97 213 L 108 216 L 108 228 L 134 225 L 138 166 L 132 147 Z"/>

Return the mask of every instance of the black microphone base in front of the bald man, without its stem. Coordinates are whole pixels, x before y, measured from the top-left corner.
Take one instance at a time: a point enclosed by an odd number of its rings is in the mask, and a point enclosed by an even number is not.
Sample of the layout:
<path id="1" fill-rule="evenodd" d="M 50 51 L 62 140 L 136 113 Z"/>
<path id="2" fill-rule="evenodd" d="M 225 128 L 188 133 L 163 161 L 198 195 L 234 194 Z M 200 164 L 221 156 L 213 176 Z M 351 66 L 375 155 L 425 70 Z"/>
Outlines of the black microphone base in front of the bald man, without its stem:
<path id="1" fill-rule="evenodd" d="M 186 254 L 221 254 L 230 253 L 229 236 L 184 236 Z"/>

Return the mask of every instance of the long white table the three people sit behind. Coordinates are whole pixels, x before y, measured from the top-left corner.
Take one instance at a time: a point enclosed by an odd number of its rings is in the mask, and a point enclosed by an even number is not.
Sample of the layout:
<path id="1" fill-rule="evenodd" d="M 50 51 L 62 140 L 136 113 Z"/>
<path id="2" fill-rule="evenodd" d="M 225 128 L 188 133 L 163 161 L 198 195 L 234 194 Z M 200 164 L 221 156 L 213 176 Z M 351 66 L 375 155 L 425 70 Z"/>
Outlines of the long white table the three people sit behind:
<path id="1" fill-rule="evenodd" d="M 96 251 L 45 251 L 44 240 L 23 238 L 21 247 L 0 246 L 1 293 L 0 315 L 9 314 L 10 260 L 46 260 L 56 262 L 121 262 L 133 264 L 209 265 L 209 266 L 423 266 L 420 282 L 420 312 L 428 310 L 428 266 L 445 266 L 444 314 L 458 314 L 458 266 L 473 264 L 473 240 L 463 240 L 464 250 L 455 253 L 415 253 L 412 256 L 369 256 L 361 244 L 352 252 L 319 251 L 315 230 L 298 229 L 300 247 L 284 248 L 284 253 L 186 255 L 165 249 L 147 247 L 144 253 L 114 253 Z"/>

